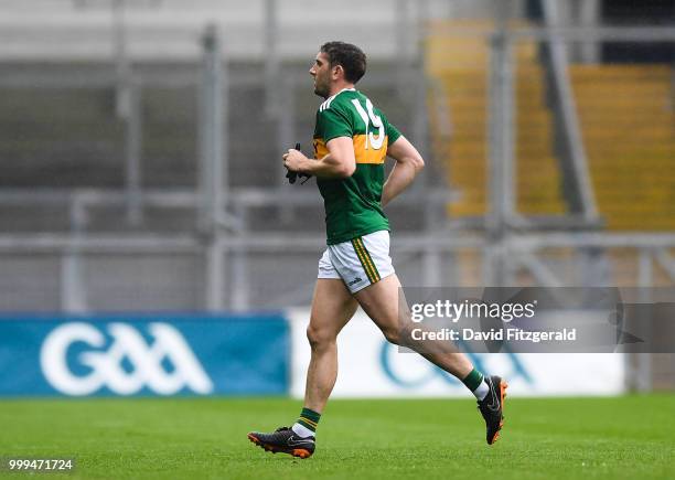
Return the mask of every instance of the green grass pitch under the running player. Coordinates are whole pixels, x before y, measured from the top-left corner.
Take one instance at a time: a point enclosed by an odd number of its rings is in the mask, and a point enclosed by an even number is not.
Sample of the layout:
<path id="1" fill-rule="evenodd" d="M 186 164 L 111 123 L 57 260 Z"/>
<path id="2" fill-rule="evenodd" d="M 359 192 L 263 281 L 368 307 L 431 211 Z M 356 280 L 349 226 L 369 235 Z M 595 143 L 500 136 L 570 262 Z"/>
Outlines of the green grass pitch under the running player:
<path id="1" fill-rule="evenodd" d="M 492 447 L 469 399 L 332 401 L 308 460 L 247 440 L 251 429 L 291 423 L 300 407 L 286 398 L 1 401 L 0 457 L 75 457 L 66 478 L 675 478 L 675 395 L 510 397 Z"/>

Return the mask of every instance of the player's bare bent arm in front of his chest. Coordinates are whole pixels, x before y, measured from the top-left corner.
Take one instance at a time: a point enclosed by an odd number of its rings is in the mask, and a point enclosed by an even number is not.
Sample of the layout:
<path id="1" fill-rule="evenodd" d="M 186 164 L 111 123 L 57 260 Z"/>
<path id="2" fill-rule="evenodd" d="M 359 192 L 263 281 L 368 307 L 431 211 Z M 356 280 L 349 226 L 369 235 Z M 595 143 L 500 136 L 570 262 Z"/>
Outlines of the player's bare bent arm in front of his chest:
<path id="1" fill-rule="evenodd" d="M 290 149 L 283 154 L 283 166 L 290 171 L 304 172 L 324 179 L 346 179 L 356 170 L 354 143 L 350 137 L 336 137 L 325 145 L 329 153 L 320 159 L 309 159 L 302 152 Z"/>

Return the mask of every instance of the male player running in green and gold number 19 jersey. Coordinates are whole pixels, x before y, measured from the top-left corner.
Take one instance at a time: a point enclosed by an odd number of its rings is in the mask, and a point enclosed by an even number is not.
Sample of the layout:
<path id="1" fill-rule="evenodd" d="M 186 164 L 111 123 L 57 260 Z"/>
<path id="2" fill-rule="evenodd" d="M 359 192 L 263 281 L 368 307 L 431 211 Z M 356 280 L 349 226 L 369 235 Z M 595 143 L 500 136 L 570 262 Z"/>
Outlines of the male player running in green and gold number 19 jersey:
<path id="1" fill-rule="evenodd" d="M 492 445 L 503 424 L 506 382 L 484 377 L 448 342 L 410 341 L 406 311 L 399 317 L 400 282 L 389 257 L 389 223 L 383 212 L 424 168 L 415 147 L 354 85 L 366 71 L 365 54 L 355 45 L 321 46 L 310 74 L 314 93 L 325 102 L 317 113 L 314 159 L 291 149 L 283 164 L 317 177 L 324 200 L 328 248 L 319 260 L 319 278 L 307 329 L 311 360 L 304 406 L 291 428 L 248 438 L 269 451 L 308 458 L 314 452 L 321 413 L 338 377 L 340 330 L 361 306 L 386 339 L 405 344 L 461 380 L 475 395 Z M 384 161 L 396 163 L 385 182 Z M 407 310 L 405 301 L 401 308 Z M 409 316 L 408 316 L 409 317 Z"/>

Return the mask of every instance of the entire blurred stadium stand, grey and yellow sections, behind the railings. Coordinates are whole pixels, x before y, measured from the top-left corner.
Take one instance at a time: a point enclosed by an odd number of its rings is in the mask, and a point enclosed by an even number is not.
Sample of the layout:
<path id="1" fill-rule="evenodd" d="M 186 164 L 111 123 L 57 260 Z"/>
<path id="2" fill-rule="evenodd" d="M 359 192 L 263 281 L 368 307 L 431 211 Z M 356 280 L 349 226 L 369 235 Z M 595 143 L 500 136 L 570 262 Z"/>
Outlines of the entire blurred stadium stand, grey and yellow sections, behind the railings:
<path id="1" fill-rule="evenodd" d="M 233 188 L 269 189 L 279 185 L 279 172 L 270 168 L 279 153 L 278 125 L 261 115 L 265 109 L 264 41 L 260 35 L 264 3 L 260 0 L 248 4 L 203 0 L 200 2 L 202 8 L 191 9 L 179 0 L 164 0 L 141 2 L 141 7 L 128 12 L 129 53 L 142 85 L 144 189 L 186 191 L 195 186 L 200 35 L 210 20 L 223 26 L 225 52 L 231 61 L 229 108 L 236 116 L 231 115 L 228 124 L 229 183 Z M 309 3 L 289 2 L 280 18 L 283 73 L 294 72 L 297 85 L 308 81 L 308 62 L 300 58 L 311 57 L 319 39 L 325 40 L 326 35 L 345 31 L 345 24 L 352 19 L 352 15 L 338 12 L 330 29 L 321 31 L 315 17 L 309 12 Z M 363 89 L 381 100 L 394 124 L 409 132 L 413 131 L 410 100 L 401 99 L 399 95 L 396 85 L 399 74 L 397 44 L 393 36 L 387 36 L 396 29 L 397 20 L 392 9 L 385 9 L 385 13 L 377 17 L 385 3 L 392 6 L 392 2 L 383 1 L 362 6 L 350 0 L 341 8 L 347 11 L 358 7 L 363 12 L 360 15 L 362 23 L 352 29 L 355 36 L 350 40 L 368 46 L 373 57 L 372 73 L 387 81 L 368 83 L 373 78 L 368 75 Z M 431 3 L 438 7 L 448 2 Z M 491 2 L 454 3 L 471 10 L 474 3 L 484 6 Z M 39 2 L 42 9 L 39 17 L 19 0 L 7 1 L 3 7 L 4 14 L 0 18 L 0 40 L 4 40 L 0 42 L 0 186 L 24 191 L 41 188 L 121 191 L 125 127 L 115 116 L 109 3 L 42 0 Z M 302 25 L 303 34 L 293 34 L 293 15 L 304 10 L 308 13 L 296 22 Z M 482 12 L 483 17 L 488 18 L 485 12 Z M 451 20 L 442 23 L 450 30 L 485 31 L 493 28 L 489 21 Z M 385 33 L 373 36 L 369 30 Z M 430 31 L 433 32 L 433 24 Z M 253 40 L 247 43 L 243 40 L 245 38 Z M 85 43 L 86 49 L 83 47 Z M 432 170 L 435 163 L 441 164 L 444 168 L 439 175 L 441 184 L 449 182 L 451 189 L 461 194 L 459 201 L 449 204 L 448 216 L 474 218 L 483 215 L 486 209 L 489 44 L 484 38 L 436 35 L 425 44 L 425 56 L 428 78 L 437 86 L 429 94 L 433 154 L 427 171 Z M 513 56 L 516 60 L 516 207 L 527 215 L 561 216 L 568 213 L 568 206 L 560 159 L 555 151 L 555 113 L 546 98 L 545 67 L 539 60 L 538 45 L 534 41 L 521 41 Z M 664 65 L 592 64 L 571 67 L 591 179 L 600 215 L 610 230 L 667 231 L 675 226 L 675 179 L 669 168 L 675 158 L 671 72 Z M 58 86 L 60 79 L 66 76 L 82 78 L 82 82 L 71 87 Z M 23 82 L 28 78 L 32 78 L 35 85 Z M 192 84 L 185 82 L 186 78 Z M 298 88 L 291 103 L 296 109 L 292 130 L 299 135 L 297 140 L 309 146 L 317 98 L 308 89 Z M 440 104 L 444 104 L 444 110 L 449 113 L 450 141 L 447 132 L 441 131 L 446 125 L 436 108 Z M 260 138 L 266 141 L 260 141 Z M 436 162 L 436 159 L 440 161 Z M 304 191 L 314 191 L 310 185 L 306 186 L 309 189 Z M 88 232 L 124 233 L 132 230 L 125 222 L 125 212 L 119 205 L 116 209 L 96 206 L 89 212 Z M 645 212 L 650 214 L 645 215 Z M 427 212 L 424 206 L 408 207 L 401 202 L 393 205 L 390 214 L 397 232 L 415 233 L 425 226 Z M 315 204 L 303 206 L 303 215 L 286 217 L 279 215 L 275 205 L 257 206 L 250 209 L 247 222 L 251 232 L 275 230 L 286 234 L 320 234 L 321 204 L 317 195 Z M 65 202 L 0 204 L 0 223 L 9 233 L 67 233 L 72 227 Z M 136 232 L 192 232 L 194 224 L 192 211 L 168 213 L 148 207 L 144 224 Z M 257 287 L 251 289 L 251 298 L 267 298 L 278 285 L 279 275 L 275 271 L 278 268 L 270 267 L 265 255 L 250 259 L 249 279 L 259 286 L 259 291 L 255 290 Z M 569 264 L 576 255 L 574 249 L 569 249 L 551 265 L 559 267 L 560 271 L 571 270 Z M 461 279 L 463 285 L 480 284 L 482 253 L 468 248 L 460 250 L 454 259 L 458 258 L 471 260 L 443 260 L 443 268 L 451 266 L 442 270 L 443 276 L 451 270 L 448 276 L 452 276 L 453 281 Z M 202 259 L 196 256 L 163 259 L 165 265 L 160 258 L 157 263 L 137 262 L 133 257 L 87 260 L 96 265 L 87 269 L 88 275 L 97 276 L 97 280 L 89 284 L 98 289 L 98 294 L 90 297 L 92 307 L 110 308 L 130 295 L 138 299 L 132 303 L 138 309 L 162 302 L 174 308 L 197 308 L 203 285 L 195 279 L 202 279 Z M 12 279 L 25 278 L 25 291 L 34 292 L 32 296 L 24 292 L 25 300 L 8 294 L 3 300 L 0 299 L 1 305 L 29 308 L 43 305 L 41 298 L 49 297 L 44 308 L 58 308 L 57 282 L 52 279 L 47 285 L 45 278 L 40 278 L 43 276 L 34 274 L 43 262 L 45 268 L 58 275 L 58 258 L 4 257 L 0 262 L 3 270 L 8 271 L 6 279 L 0 279 L 8 287 L 6 291 L 14 291 L 10 288 Z M 626 273 L 621 277 L 626 281 L 621 280 L 622 285 L 634 284 L 635 279 L 635 258 L 626 262 Z M 311 282 L 313 263 L 313 257 L 289 259 L 285 263 L 285 271 L 298 271 L 302 281 Z M 401 264 L 401 271 L 408 273 L 408 267 L 413 271 L 408 278 L 421 277 L 417 273 L 421 269 L 419 262 L 414 259 L 410 265 Z M 622 268 L 619 264 L 615 267 L 618 270 Z M 167 278 L 165 271 L 170 270 L 181 270 L 185 275 L 172 279 L 174 284 L 167 287 L 160 280 Z M 660 271 L 655 275 L 667 280 Z M 33 277 L 34 286 L 30 286 Z M 138 279 L 138 285 L 132 284 L 127 291 L 126 287 L 115 282 L 115 278 L 121 277 Z M 41 284 L 43 280 L 45 284 Z M 526 282 L 532 281 L 534 279 Z M 108 285 L 115 285 L 115 291 L 121 292 L 118 298 L 106 298 L 110 291 L 106 288 Z M 152 288 L 157 291 L 144 287 L 148 285 L 154 285 Z M 181 296 L 176 291 L 185 294 Z"/>

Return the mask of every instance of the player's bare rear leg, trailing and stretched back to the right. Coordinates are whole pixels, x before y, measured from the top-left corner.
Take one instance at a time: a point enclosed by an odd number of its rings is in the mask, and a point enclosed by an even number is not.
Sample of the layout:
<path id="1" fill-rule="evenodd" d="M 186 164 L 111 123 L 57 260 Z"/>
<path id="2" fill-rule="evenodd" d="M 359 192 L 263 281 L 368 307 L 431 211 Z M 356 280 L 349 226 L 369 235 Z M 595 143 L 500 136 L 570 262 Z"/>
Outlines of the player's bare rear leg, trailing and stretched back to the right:
<path id="1" fill-rule="evenodd" d="M 465 378 L 473 370 L 467 355 L 450 342 L 425 340 L 422 344 L 413 341 L 410 330 L 419 326 L 410 320 L 396 274 L 357 291 L 354 297 L 389 342 L 415 350 L 459 380 Z"/>

